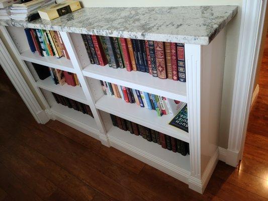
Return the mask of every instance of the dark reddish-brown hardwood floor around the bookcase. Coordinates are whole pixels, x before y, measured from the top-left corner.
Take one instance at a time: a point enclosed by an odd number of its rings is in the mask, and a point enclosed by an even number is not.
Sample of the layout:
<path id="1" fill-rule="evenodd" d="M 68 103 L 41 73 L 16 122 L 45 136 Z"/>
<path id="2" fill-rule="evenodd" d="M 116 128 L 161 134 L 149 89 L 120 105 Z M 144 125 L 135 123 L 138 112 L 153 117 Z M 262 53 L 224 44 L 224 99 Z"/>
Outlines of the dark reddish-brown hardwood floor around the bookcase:
<path id="1" fill-rule="evenodd" d="M 37 124 L 0 68 L 2 200 L 268 200 L 268 41 L 243 160 L 218 165 L 204 192 L 58 121 Z"/>

